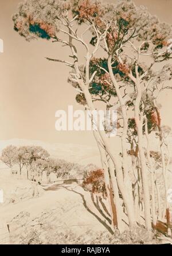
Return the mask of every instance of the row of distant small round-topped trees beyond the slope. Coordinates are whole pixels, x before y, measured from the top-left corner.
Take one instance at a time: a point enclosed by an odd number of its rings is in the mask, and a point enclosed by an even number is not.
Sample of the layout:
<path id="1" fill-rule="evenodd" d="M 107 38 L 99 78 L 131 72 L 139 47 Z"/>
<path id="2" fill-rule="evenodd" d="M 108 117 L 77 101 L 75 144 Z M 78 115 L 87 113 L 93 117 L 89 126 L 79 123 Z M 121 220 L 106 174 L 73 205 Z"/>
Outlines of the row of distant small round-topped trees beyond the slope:
<path id="1" fill-rule="evenodd" d="M 57 178 L 78 178 L 83 172 L 79 164 L 70 163 L 62 159 L 54 159 L 41 146 L 7 146 L 2 150 L 1 161 L 10 169 L 11 173 L 18 174 L 24 178 L 42 182 L 42 174 L 54 173 Z M 18 170 L 17 170 L 18 169 Z"/>

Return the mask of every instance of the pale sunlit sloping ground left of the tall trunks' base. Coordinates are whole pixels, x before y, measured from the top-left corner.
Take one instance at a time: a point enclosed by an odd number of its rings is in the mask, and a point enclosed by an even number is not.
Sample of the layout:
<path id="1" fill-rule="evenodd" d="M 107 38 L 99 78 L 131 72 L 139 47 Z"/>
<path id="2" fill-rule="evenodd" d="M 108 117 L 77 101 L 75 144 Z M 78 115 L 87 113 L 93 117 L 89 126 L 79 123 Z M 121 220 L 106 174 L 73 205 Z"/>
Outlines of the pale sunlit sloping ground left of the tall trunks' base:
<path id="1" fill-rule="evenodd" d="M 18 241 L 21 240 L 18 240 L 18 237 L 25 236 L 25 232 L 32 231 L 33 227 L 42 234 L 41 237 L 44 240 L 47 233 L 49 234 L 44 225 L 48 225 L 48 228 L 53 227 L 53 232 L 63 232 L 63 234 L 67 235 L 72 232 L 79 237 L 84 237 L 86 242 L 87 239 L 90 239 L 87 237 L 88 231 L 93 231 L 95 234 L 107 232 L 103 224 L 84 207 L 83 198 L 81 198 L 80 194 L 84 195 L 89 210 L 102 221 L 105 221 L 93 205 L 89 193 L 85 192 L 79 185 L 76 183 L 70 185 L 55 183 L 46 185 L 44 188 L 48 189 L 48 191 L 45 191 L 40 197 L 21 201 L 17 204 L 0 206 L 0 244 L 20 243 Z M 28 219 L 26 213 L 29 214 Z M 19 214 L 21 214 L 21 217 L 17 217 Z M 24 217 L 22 217 L 22 214 L 24 214 Z M 40 224 L 40 221 L 42 224 Z M 18 223 L 21 223 L 21 227 L 19 227 Z M 5 229 L 6 224 L 9 224 L 12 240 L 9 237 L 7 228 Z M 1 228 L 3 228 L 2 232 Z M 4 240 L 4 236 L 6 240 Z M 172 243 L 172 240 L 162 236 L 162 240 L 159 240 L 159 243 L 161 242 Z"/>

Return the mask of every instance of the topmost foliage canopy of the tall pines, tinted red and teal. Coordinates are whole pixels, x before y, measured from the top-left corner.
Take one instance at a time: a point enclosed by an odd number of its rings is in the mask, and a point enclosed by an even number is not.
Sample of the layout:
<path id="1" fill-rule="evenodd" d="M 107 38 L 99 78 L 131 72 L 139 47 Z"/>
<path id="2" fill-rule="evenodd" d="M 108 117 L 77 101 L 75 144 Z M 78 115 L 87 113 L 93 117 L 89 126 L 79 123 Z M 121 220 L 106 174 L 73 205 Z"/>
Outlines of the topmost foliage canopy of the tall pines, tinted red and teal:
<path id="1" fill-rule="evenodd" d="M 25 0 L 13 16 L 14 29 L 28 41 L 37 37 L 49 40 L 57 36 L 68 12 L 79 24 L 87 22 L 100 33 L 111 22 L 107 33 L 110 48 L 125 42 L 128 36 L 150 40 L 162 48 L 168 44 L 171 35 L 170 25 L 159 22 L 145 7 L 136 6 L 130 0 L 118 1 L 116 5 L 95 0 Z M 143 47 L 148 47 L 148 44 Z"/>

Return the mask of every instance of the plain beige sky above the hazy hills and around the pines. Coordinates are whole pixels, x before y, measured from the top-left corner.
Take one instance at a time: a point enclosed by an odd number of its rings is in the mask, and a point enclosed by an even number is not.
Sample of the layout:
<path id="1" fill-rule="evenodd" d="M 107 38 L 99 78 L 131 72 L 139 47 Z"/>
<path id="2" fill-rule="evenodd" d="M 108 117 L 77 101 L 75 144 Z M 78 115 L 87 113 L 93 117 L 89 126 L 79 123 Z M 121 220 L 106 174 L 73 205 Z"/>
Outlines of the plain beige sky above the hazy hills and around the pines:
<path id="1" fill-rule="evenodd" d="M 76 92 L 68 84 L 68 67 L 48 62 L 44 57 L 64 59 L 68 51 L 56 43 L 36 40 L 30 43 L 13 29 L 11 17 L 21 0 L 0 0 L 0 140 L 25 138 L 47 142 L 95 145 L 91 131 L 56 131 L 55 112 L 75 102 Z M 109 2 L 115 2 L 109 0 Z M 172 0 L 135 0 L 145 5 L 161 21 L 172 24 Z M 162 124 L 172 127 L 172 92 L 161 97 Z"/>

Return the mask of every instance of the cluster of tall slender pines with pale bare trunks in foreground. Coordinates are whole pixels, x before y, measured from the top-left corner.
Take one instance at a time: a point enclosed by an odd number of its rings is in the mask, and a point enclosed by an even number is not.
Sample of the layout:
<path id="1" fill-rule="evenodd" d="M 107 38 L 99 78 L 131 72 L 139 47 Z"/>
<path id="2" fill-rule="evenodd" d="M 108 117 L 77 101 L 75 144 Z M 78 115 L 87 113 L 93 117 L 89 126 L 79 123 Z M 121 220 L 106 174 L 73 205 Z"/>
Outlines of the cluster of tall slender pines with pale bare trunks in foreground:
<path id="1" fill-rule="evenodd" d="M 71 50 L 68 60 L 47 59 L 71 69 L 68 81 L 77 91 L 78 103 L 89 111 L 98 109 L 100 102 L 105 109 L 118 111 L 120 146 L 116 143 L 114 150 L 114 141 L 106 131 L 93 131 L 112 228 L 123 230 L 125 212 L 130 229 L 143 217 L 151 231 L 157 220 L 162 220 L 160 200 L 169 227 L 170 129 L 161 124 L 158 97 L 171 89 L 171 25 L 159 22 L 145 7 L 130 0 L 116 5 L 97 0 L 28 0 L 19 5 L 13 21 L 15 31 L 26 40 L 39 37 Z M 157 152 L 153 152 L 152 141 Z M 163 193 L 159 195 L 158 183 L 162 182 Z"/>

